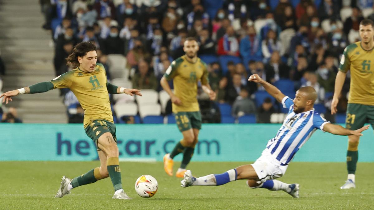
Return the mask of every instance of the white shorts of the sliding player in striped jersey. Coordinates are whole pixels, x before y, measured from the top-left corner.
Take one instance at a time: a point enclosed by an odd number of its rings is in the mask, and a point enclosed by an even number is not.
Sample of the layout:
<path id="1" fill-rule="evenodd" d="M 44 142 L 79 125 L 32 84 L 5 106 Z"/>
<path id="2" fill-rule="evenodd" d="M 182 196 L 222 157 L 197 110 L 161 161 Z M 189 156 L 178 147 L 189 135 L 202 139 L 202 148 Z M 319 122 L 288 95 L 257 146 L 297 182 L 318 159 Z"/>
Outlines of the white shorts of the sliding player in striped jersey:
<path id="1" fill-rule="evenodd" d="M 282 177 L 287 170 L 287 166 L 281 166 L 281 162 L 275 159 L 270 151 L 266 148 L 253 164 L 251 164 L 257 173 L 261 182 L 269 179 L 277 179 Z"/>

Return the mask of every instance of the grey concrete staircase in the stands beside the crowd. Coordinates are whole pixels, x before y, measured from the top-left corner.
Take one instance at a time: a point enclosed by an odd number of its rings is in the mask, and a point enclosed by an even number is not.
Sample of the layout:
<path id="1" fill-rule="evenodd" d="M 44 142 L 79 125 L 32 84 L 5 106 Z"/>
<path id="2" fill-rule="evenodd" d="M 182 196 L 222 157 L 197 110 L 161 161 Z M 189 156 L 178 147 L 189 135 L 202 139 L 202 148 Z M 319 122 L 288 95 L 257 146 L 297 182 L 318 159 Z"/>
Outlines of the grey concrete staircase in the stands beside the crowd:
<path id="1" fill-rule="evenodd" d="M 55 78 L 51 35 L 42 29 L 39 1 L 0 0 L 0 50 L 6 65 L 3 92 Z M 18 108 L 24 123 L 67 123 L 58 90 L 16 96 L 6 107 Z"/>

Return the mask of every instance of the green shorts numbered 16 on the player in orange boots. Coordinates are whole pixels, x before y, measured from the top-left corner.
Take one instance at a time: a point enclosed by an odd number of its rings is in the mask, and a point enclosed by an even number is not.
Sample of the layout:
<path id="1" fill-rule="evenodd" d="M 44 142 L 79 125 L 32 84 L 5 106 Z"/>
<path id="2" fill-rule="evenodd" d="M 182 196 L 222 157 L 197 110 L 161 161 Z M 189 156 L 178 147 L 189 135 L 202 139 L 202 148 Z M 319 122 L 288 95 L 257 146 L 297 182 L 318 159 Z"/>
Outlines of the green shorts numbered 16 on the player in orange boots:
<path id="1" fill-rule="evenodd" d="M 181 132 L 194 129 L 201 129 L 201 113 L 197 112 L 177 112 L 174 113 L 175 121 Z"/>

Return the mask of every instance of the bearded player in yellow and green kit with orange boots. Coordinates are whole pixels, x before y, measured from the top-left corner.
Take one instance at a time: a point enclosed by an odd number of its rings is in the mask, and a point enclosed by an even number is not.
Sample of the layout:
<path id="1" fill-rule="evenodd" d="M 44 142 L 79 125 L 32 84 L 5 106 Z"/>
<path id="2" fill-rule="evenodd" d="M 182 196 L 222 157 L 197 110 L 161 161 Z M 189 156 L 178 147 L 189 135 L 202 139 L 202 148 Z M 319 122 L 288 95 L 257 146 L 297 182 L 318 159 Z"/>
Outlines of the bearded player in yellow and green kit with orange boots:
<path id="1" fill-rule="evenodd" d="M 183 152 L 183 160 L 176 173 L 177 177 L 184 176 L 201 129 L 201 114 L 196 99 L 197 83 L 201 82 L 202 89 L 211 100 L 214 100 L 216 96 L 209 86 L 206 64 L 197 57 L 199 45 L 196 39 L 188 37 L 184 42 L 183 50 L 186 55 L 173 61 L 160 81 L 161 86 L 171 98 L 175 120 L 183 135 L 183 139 L 175 145 L 172 152 L 163 157 L 165 172 L 172 176 L 173 158 Z M 170 89 L 168 80 L 173 80 L 174 93 Z"/>

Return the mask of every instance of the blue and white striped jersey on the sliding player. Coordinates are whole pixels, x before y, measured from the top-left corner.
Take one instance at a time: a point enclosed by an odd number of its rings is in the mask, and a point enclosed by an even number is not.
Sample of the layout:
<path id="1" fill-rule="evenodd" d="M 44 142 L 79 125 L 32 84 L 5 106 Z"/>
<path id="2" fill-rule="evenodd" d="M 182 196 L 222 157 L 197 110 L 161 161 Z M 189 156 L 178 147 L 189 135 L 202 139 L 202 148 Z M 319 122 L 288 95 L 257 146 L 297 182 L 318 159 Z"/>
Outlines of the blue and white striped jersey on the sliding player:
<path id="1" fill-rule="evenodd" d="M 312 136 L 316 129 L 322 130 L 326 123 L 314 109 L 296 114 L 294 102 L 288 96 L 283 98 L 284 108 L 288 108 L 288 115 L 283 121 L 281 129 L 276 136 L 269 140 L 266 147 L 270 154 L 281 162 L 282 166 L 288 165 L 296 152 Z M 322 130 L 323 131 L 323 130 Z"/>

